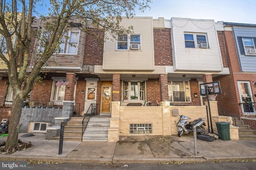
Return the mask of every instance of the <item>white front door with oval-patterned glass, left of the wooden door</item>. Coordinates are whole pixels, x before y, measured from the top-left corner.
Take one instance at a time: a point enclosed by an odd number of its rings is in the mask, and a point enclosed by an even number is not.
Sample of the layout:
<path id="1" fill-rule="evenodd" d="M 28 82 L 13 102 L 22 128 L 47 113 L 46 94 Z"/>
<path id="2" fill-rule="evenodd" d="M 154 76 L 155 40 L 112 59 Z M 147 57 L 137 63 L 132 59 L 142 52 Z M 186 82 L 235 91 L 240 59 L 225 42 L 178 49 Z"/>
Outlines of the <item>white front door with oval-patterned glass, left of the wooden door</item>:
<path id="1" fill-rule="evenodd" d="M 92 103 L 96 104 L 97 81 L 86 81 L 85 107 L 84 113 L 87 113 Z M 88 111 L 90 113 L 90 111 Z"/>

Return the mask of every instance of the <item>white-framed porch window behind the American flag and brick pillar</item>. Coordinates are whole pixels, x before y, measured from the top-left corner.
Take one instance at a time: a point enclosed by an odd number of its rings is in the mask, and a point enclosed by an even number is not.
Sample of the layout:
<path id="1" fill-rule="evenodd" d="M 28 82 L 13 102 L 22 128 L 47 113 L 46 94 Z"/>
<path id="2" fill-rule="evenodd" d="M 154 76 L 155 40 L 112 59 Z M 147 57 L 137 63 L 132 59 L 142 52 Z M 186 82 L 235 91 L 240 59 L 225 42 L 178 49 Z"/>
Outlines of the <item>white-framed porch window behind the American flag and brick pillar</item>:
<path id="1" fill-rule="evenodd" d="M 60 87 L 56 86 L 55 84 L 58 82 L 58 80 L 53 81 L 53 90 L 52 90 L 52 101 L 64 101 L 65 97 L 65 89 L 66 86 L 61 85 Z M 76 96 L 76 81 L 75 81 L 75 87 L 74 87 L 74 101 Z"/>

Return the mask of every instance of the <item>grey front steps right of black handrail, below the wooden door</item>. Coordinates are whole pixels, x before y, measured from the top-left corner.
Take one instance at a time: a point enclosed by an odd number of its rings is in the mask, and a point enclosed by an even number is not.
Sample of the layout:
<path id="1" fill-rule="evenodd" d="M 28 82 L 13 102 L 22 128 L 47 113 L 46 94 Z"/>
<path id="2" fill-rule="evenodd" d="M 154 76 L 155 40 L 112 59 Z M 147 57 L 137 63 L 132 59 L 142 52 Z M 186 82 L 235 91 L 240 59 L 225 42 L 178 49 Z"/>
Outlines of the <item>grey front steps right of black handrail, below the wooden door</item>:
<path id="1" fill-rule="evenodd" d="M 90 118 L 82 141 L 107 142 L 108 128 L 110 127 L 110 116 L 97 115 Z"/>

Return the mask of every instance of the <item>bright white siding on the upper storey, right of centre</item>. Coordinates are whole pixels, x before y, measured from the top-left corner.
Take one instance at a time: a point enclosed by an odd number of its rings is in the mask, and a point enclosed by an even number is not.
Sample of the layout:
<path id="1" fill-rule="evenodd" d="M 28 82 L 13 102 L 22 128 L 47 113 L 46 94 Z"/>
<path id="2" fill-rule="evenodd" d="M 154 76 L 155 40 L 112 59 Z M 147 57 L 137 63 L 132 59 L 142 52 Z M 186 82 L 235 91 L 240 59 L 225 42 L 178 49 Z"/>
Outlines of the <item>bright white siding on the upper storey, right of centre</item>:
<path id="1" fill-rule="evenodd" d="M 171 24 L 174 71 L 222 71 L 214 20 L 172 18 Z M 208 48 L 186 48 L 184 33 L 207 35 Z"/>

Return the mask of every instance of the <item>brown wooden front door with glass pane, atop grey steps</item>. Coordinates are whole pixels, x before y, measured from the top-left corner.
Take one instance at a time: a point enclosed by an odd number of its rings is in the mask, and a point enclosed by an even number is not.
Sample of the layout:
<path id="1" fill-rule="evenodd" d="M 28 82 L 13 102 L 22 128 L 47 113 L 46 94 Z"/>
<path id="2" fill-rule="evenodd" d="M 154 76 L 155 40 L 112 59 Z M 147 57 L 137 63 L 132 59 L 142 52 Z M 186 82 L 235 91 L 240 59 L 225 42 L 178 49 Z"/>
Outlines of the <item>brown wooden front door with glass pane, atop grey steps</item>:
<path id="1" fill-rule="evenodd" d="M 112 99 L 112 82 L 110 81 L 102 82 L 101 94 L 102 94 L 101 112 L 110 113 L 111 99 Z"/>

